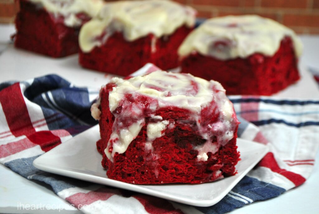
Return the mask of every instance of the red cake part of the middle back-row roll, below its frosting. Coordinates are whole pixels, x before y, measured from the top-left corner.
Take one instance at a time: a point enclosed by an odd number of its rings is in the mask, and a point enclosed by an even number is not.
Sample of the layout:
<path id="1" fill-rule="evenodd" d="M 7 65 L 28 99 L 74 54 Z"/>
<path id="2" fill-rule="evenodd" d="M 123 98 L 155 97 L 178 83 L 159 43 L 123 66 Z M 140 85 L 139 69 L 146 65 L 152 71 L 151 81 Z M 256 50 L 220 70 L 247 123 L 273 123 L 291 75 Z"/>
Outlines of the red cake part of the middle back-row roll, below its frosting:
<path id="1" fill-rule="evenodd" d="M 122 33 L 110 36 L 106 43 L 92 51 L 79 53 L 79 63 L 85 68 L 127 76 L 146 63 L 153 63 L 163 70 L 178 67 L 177 49 L 192 30 L 178 28 L 172 35 L 156 38 L 153 34 L 135 41 L 126 41 Z M 103 36 L 100 37 L 102 39 Z M 156 40 L 155 51 L 152 42 Z"/>

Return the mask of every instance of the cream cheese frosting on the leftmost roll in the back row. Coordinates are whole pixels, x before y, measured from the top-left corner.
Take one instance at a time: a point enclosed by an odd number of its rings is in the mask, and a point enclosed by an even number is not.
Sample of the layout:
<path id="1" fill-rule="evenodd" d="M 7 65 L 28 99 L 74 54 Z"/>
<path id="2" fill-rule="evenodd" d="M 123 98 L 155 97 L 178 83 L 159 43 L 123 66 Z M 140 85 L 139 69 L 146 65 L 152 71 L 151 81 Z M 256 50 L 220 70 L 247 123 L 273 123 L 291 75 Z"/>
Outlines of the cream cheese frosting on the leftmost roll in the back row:
<path id="1" fill-rule="evenodd" d="M 55 16 L 62 15 L 64 24 L 69 27 L 76 27 L 82 24 L 77 13 L 85 13 L 89 17 L 98 15 L 103 7 L 103 0 L 29 0 L 45 8 Z"/>

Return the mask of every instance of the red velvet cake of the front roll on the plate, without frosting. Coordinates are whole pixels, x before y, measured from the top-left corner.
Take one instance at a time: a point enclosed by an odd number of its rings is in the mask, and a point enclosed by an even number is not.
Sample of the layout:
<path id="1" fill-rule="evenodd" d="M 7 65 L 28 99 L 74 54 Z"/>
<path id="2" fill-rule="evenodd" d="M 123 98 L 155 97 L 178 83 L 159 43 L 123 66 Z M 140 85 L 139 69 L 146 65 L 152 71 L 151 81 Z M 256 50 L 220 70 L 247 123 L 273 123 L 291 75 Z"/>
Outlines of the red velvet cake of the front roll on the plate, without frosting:
<path id="1" fill-rule="evenodd" d="M 187 92 L 188 94 L 198 92 L 197 83 L 192 82 L 192 85 L 193 90 Z M 167 106 L 158 107 L 154 112 L 153 108 L 150 107 L 153 105 L 154 99 L 143 94 L 135 97 L 131 94 L 125 95 L 119 106 L 111 112 L 109 93 L 114 88 L 116 88 L 116 84 L 110 83 L 101 89 L 98 107 L 101 112 L 99 115 L 101 139 L 96 145 L 98 151 L 103 155 L 102 166 L 107 169 L 108 178 L 134 184 L 203 183 L 236 173 L 235 165 L 239 160 L 239 152 L 236 146 L 238 121 L 235 113 L 231 116 L 233 137 L 220 146 L 216 153 L 208 152 L 207 160 L 203 161 L 198 159 L 199 151 L 196 149 L 206 142 L 202 137 L 202 132 L 205 132 L 206 129 L 214 129 L 213 127 L 218 123 L 226 123 L 220 119 L 221 114 L 224 113 L 218 109 L 214 100 L 201 109 L 201 119 L 198 121 L 201 128 L 199 129 L 191 110 Z M 221 92 L 219 89 L 213 89 L 212 93 Z M 104 150 L 107 148 L 112 130 L 128 127 L 138 120 L 134 112 L 129 113 L 136 106 L 142 107 L 142 117 L 145 118 L 145 124 L 124 153 L 116 152 L 109 159 Z M 233 109 L 233 107 L 231 108 Z M 123 116 L 126 114 L 130 114 L 131 118 Z M 165 135 L 154 139 L 152 149 L 147 149 L 145 146 L 148 142 L 147 126 L 159 120 L 152 115 L 162 117 L 160 120 L 168 121 L 169 125 L 165 129 Z M 115 121 L 116 117 L 118 117 L 117 121 Z M 224 133 L 220 130 L 210 131 L 213 133 L 213 136 L 210 137 L 210 145 L 218 145 L 217 139 Z M 108 150 L 110 153 L 112 152 L 112 145 Z"/>

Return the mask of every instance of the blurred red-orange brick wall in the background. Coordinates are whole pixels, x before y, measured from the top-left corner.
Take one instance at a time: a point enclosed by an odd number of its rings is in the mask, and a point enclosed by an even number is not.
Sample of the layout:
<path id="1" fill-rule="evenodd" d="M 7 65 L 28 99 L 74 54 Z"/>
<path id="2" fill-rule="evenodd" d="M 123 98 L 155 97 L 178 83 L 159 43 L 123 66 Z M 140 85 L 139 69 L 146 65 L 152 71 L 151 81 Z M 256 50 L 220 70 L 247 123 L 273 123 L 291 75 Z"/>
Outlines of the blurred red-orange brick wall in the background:
<path id="1" fill-rule="evenodd" d="M 297 33 L 319 34 L 319 0 L 175 0 L 198 10 L 198 17 L 258 14 Z M 14 20 L 15 0 L 0 0 L 0 23 Z"/>

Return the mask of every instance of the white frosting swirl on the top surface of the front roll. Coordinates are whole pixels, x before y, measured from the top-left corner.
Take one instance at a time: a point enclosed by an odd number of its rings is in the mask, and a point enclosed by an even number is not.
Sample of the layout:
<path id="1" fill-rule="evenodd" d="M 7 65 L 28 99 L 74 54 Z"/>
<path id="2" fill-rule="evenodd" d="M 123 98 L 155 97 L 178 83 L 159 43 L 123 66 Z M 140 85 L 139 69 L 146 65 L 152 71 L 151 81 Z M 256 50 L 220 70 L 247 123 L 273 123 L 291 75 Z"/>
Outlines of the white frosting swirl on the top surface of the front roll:
<path id="1" fill-rule="evenodd" d="M 191 81 L 198 84 L 198 92 L 194 91 Z M 154 71 L 128 80 L 114 77 L 110 83 L 117 85 L 108 97 L 111 112 L 118 107 L 125 94 L 138 93 L 158 100 L 160 108 L 176 106 L 200 113 L 202 107 L 213 99 L 212 85 L 225 91 L 219 82 L 166 71 Z"/>

